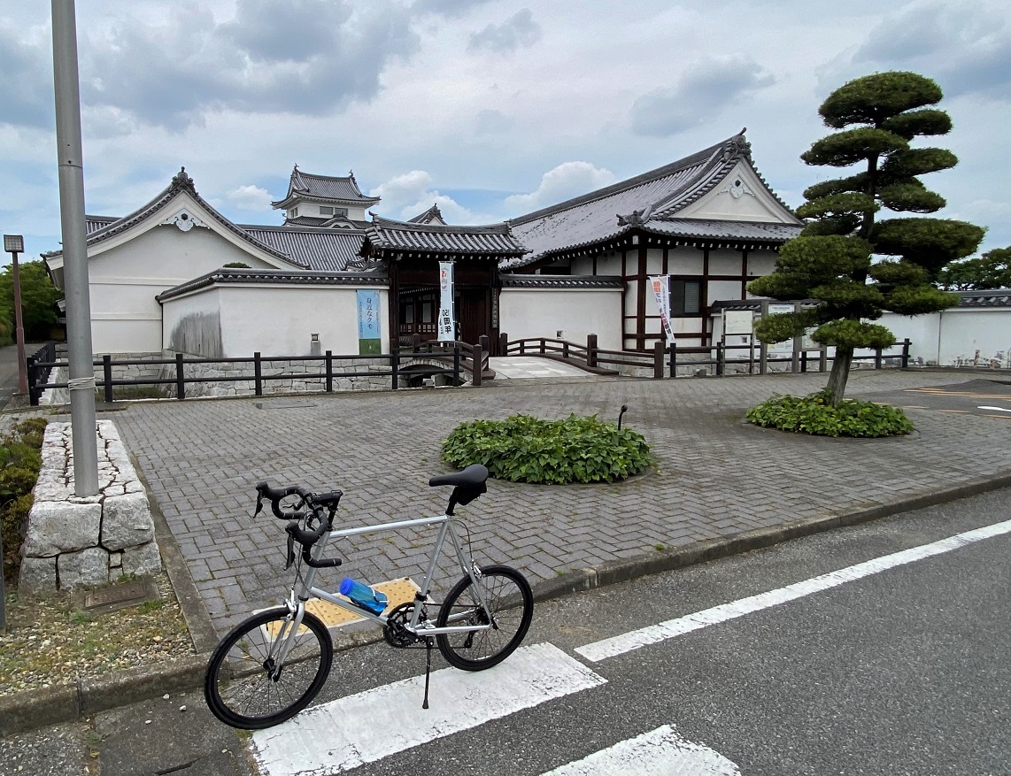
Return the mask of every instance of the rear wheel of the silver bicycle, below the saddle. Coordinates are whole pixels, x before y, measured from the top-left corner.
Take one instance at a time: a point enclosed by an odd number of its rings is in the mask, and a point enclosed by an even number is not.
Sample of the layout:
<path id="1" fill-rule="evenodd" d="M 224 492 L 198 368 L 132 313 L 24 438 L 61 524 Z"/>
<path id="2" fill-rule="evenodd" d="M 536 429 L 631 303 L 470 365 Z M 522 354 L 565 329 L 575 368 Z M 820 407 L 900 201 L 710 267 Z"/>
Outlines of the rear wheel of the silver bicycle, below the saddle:
<path id="1" fill-rule="evenodd" d="M 534 618 L 534 594 L 523 574 L 509 566 L 484 566 L 478 584 L 487 609 L 469 576 L 453 585 L 439 609 L 439 627 L 492 624 L 487 630 L 436 637 L 446 662 L 464 671 L 482 671 L 505 660 L 523 642 Z"/>

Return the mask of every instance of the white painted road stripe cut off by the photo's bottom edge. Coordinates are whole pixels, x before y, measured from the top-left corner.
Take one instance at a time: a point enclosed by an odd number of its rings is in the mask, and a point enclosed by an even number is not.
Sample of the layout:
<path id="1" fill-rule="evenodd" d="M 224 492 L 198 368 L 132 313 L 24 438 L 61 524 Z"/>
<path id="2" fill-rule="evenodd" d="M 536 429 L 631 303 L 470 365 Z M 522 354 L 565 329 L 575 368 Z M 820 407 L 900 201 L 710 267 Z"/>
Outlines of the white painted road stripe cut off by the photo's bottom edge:
<path id="1" fill-rule="evenodd" d="M 741 772 L 719 752 L 685 741 L 665 724 L 541 776 L 741 776 Z"/>

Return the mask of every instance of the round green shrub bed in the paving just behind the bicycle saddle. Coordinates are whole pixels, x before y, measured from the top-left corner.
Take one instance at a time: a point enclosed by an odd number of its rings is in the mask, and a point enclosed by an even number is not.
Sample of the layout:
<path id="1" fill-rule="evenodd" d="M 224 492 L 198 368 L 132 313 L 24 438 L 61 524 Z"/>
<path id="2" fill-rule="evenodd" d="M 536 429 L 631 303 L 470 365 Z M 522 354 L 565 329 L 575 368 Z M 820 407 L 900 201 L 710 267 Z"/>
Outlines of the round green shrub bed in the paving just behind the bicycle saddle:
<path id="1" fill-rule="evenodd" d="M 510 482 L 563 485 L 615 482 L 652 463 L 649 445 L 629 428 L 571 414 L 564 420 L 514 415 L 472 420 L 453 429 L 442 457 L 457 467 L 483 464 Z"/>

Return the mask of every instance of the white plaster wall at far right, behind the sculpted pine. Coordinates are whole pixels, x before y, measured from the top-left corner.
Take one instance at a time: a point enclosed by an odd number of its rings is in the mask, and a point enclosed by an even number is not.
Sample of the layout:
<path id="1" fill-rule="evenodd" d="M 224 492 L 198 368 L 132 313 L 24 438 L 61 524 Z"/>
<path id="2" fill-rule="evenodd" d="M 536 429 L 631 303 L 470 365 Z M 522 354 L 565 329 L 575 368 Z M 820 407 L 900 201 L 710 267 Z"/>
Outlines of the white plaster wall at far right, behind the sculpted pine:
<path id="1" fill-rule="evenodd" d="M 909 337 L 910 356 L 925 364 L 991 367 L 996 362 L 1011 368 L 1011 309 L 953 309 L 913 317 L 886 313 L 877 322 L 900 342 Z"/>

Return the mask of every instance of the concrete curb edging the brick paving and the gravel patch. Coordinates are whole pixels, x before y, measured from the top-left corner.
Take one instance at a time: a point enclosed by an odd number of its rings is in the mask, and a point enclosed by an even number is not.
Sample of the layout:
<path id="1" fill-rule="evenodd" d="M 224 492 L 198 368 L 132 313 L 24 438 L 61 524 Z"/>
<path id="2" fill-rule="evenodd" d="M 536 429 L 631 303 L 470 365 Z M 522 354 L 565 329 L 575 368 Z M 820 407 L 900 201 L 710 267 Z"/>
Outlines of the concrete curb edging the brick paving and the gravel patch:
<path id="1" fill-rule="evenodd" d="M 974 480 L 955 488 L 913 498 L 897 499 L 843 514 L 796 520 L 724 539 L 695 542 L 684 547 L 658 551 L 638 558 L 609 561 L 596 568 L 580 569 L 557 579 L 538 582 L 533 586 L 534 596 L 538 601 L 545 601 L 569 593 L 592 590 L 638 577 L 760 550 L 842 525 L 856 525 L 1007 487 L 1011 487 L 1011 472 L 989 479 Z M 152 512 L 157 513 L 156 528 L 161 531 L 164 527 L 168 532 L 161 509 L 154 501 Z M 183 608 L 186 623 L 190 627 L 194 644 L 201 653 L 166 661 L 156 666 L 145 666 L 118 671 L 96 679 L 85 679 L 72 685 L 57 685 L 0 697 L 0 736 L 73 721 L 81 716 L 147 700 L 166 692 L 181 692 L 202 686 L 204 668 L 209 659 L 209 652 L 216 645 L 217 636 L 171 534 L 168 534 L 167 541 L 163 545 L 163 536 L 159 532 L 158 542 L 163 548 L 166 570 L 176 588 L 176 596 Z M 382 641 L 381 635 L 353 633 L 335 641 L 334 648 L 336 651 L 344 651 L 380 641 Z"/>

